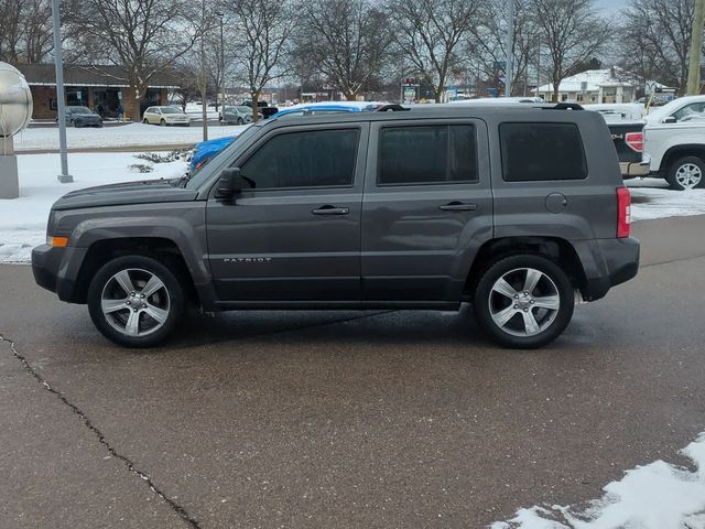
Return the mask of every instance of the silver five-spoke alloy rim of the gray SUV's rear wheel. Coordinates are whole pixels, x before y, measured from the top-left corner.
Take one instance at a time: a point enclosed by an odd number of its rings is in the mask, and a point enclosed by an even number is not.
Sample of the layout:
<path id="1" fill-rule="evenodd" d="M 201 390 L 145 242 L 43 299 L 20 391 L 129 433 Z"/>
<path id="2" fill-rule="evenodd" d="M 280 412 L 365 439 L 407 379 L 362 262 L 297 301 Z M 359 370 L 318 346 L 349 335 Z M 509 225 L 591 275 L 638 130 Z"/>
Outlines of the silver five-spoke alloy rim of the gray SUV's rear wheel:
<path id="1" fill-rule="evenodd" d="M 489 296 L 495 324 L 512 336 L 535 336 L 551 326 L 561 309 L 553 280 L 533 268 L 520 268 L 499 278 Z"/>

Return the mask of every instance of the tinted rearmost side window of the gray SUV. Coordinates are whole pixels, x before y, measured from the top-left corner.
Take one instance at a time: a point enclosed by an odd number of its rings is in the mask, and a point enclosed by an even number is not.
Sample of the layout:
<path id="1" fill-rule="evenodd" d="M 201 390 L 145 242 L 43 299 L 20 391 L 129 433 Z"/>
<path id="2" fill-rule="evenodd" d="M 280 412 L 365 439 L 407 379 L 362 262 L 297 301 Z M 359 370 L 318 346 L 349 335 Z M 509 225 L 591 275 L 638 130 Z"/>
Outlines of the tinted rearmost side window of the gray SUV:
<path id="1" fill-rule="evenodd" d="M 499 138 L 507 182 L 587 177 L 583 140 L 574 123 L 501 123 Z"/>

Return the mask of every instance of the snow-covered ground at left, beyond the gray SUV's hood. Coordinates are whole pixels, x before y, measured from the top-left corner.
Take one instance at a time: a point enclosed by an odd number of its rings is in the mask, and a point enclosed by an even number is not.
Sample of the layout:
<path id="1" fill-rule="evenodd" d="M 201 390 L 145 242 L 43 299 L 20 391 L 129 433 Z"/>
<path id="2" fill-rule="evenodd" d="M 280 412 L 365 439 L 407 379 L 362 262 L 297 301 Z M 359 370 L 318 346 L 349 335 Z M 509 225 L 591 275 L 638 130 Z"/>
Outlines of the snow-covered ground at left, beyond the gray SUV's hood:
<path id="1" fill-rule="evenodd" d="M 0 199 L 0 262 L 29 262 L 32 248 L 44 244 L 52 204 L 69 191 L 116 182 L 182 176 L 186 162 L 153 164 L 154 172 L 130 171 L 132 164 L 148 164 L 134 153 L 83 153 L 68 155 L 74 183 L 62 184 L 58 154 L 18 156 L 20 197 Z"/>

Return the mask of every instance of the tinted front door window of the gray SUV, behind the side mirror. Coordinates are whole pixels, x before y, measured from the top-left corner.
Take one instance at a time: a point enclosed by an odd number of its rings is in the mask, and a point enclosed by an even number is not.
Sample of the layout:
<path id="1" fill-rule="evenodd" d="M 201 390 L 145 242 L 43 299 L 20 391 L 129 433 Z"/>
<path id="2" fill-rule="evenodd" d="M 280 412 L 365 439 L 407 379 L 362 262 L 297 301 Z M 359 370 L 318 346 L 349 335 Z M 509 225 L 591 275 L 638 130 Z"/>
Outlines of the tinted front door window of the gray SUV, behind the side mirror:
<path id="1" fill-rule="evenodd" d="M 258 190 L 352 185 L 359 129 L 286 132 L 240 168 Z"/>

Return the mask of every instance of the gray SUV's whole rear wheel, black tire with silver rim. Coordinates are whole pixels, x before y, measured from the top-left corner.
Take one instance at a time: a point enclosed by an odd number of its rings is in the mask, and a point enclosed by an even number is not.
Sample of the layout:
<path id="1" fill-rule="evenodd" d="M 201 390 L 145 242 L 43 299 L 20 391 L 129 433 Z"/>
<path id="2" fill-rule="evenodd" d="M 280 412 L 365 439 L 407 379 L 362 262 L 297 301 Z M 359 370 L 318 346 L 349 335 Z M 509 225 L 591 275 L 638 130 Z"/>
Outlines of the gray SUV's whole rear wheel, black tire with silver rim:
<path id="1" fill-rule="evenodd" d="M 528 270 L 538 271 L 541 277 L 525 295 Z M 510 292 L 494 290 L 500 279 L 511 287 Z M 555 310 L 539 306 L 538 303 L 547 300 L 555 304 Z M 553 261 L 531 253 L 506 257 L 490 264 L 477 283 L 473 303 L 479 327 L 497 343 L 513 349 L 533 349 L 553 342 L 571 322 L 574 307 L 575 292 L 568 276 Z M 500 326 L 496 320 L 501 321 L 502 313 L 509 320 Z M 530 316 L 538 325 L 532 334 L 527 323 Z"/>

